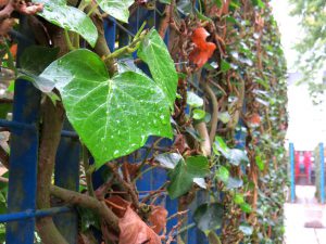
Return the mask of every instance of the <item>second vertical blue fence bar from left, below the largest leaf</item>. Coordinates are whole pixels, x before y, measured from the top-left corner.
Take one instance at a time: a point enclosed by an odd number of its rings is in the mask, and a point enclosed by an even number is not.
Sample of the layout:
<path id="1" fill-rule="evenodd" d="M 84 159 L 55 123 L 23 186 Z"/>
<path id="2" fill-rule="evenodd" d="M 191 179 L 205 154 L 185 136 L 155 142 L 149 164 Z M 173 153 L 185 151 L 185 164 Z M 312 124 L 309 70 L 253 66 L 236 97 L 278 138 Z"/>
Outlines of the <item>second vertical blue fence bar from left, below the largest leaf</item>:
<path id="1" fill-rule="evenodd" d="M 66 120 L 63 127 L 73 132 L 73 127 Z M 79 190 L 79 140 L 71 137 L 62 137 L 55 157 L 54 183 L 58 187 L 72 191 Z M 59 231 L 70 244 L 77 242 L 78 216 L 76 210 L 65 213 L 53 218 Z"/>

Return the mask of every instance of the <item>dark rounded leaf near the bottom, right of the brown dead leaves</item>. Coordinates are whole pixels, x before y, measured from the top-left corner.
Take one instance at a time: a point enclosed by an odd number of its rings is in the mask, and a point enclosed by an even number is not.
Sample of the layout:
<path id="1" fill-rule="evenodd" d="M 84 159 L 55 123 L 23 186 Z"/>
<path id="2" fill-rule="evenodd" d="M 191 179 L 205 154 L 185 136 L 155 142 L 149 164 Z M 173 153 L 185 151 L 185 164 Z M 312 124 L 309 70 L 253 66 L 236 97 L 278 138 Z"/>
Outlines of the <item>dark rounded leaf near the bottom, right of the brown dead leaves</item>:
<path id="1" fill-rule="evenodd" d="M 196 209 L 193 220 L 198 229 L 203 232 L 216 230 L 222 226 L 223 213 L 224 208 L 222 204 L 205 203 Z"/>

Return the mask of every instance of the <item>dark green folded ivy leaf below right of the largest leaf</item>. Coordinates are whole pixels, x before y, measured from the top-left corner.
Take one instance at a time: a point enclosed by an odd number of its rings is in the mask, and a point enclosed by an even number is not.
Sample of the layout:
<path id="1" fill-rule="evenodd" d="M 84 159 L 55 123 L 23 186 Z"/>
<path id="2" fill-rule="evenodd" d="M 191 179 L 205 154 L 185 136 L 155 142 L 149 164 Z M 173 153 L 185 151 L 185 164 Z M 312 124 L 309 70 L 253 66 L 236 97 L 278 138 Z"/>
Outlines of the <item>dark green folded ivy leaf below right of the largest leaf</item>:
<path id="1" fill-rule="evenodd" d="M 205 177 L 209 172 L 209 162 L 204 156 L 192 156 L 186 160 L 179 160 L 177 166 L 168 172 L 171 183 L 167 192 L 170 197 L 176 198 L 184 195 L 191 189 L 195 178 Z"/>

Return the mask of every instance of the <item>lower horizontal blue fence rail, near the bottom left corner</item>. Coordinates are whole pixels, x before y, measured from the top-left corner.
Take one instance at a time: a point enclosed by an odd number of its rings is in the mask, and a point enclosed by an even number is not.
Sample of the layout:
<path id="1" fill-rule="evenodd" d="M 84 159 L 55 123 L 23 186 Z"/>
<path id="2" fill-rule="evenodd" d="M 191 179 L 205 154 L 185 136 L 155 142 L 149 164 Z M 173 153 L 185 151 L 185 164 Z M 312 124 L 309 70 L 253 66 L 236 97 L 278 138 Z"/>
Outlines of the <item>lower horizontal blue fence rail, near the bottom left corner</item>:
<path id="1" fill-rule="evenodd" d="M 52 208 L 42 209 L 42 210 L 27 209 L 25 211 L 17 211 L 17 213 L 13 213 L 13 214 L 0 215 L 0 222 L 12 222 L 12 221 L 17 221 L 17 220 L 26 220 L 26 219 L 30 219 L 30 218 L 41 218 L 41 217 L 68 213 L 71 210 L 72 210 L 72 208 L 70 208 L 70 207 L 52 207 Z"/>

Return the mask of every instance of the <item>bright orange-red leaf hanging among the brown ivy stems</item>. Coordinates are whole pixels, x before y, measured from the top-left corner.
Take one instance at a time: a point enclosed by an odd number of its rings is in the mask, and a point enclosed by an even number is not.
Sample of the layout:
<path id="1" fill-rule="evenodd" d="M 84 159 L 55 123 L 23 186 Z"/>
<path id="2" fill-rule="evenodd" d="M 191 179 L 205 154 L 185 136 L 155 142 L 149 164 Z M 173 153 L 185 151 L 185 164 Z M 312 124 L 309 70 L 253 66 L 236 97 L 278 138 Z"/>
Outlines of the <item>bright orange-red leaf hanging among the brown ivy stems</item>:
<path id="1" fill-rule="evenodd" d="M 208 36 L 210 34 L 203 27 L 195 29 L 191 36 L 191 40 L 196 47 L 190 53 L 189 60 L 199 68 L 208 62 L 216 49 L 213 42 L 206 41 Z"/>

